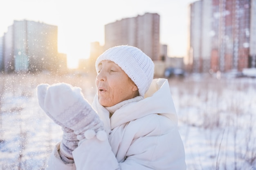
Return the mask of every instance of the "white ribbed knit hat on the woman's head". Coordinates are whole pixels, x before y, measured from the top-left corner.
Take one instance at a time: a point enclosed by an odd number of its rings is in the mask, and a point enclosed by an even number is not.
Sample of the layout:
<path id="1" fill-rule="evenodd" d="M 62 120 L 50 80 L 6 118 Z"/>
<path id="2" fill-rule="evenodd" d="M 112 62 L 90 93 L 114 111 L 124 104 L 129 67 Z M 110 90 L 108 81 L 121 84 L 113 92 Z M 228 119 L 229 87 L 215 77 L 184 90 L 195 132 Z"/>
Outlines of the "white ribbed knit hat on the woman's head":
<path id="1" fill-rule="evenodd" d="M 144 96 L 154 76 L 154 63 L 151 58 L 137 47 L 120 45 L 106 50 L 97 58 L 95 63 L 97 72 L 102 60 L 113 61 L 121 67 L 137 85 L 139 95 Z"/>

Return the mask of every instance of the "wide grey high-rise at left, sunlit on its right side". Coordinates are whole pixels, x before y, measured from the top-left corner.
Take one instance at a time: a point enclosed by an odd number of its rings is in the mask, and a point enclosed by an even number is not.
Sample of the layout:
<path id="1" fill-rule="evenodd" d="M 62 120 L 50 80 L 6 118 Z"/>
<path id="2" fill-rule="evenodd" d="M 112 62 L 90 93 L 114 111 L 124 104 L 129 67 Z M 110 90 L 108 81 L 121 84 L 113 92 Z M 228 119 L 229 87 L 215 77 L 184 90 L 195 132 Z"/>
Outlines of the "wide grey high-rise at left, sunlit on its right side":
<path id="1" fill-rule="evenodd" d="M 57 71 L 58 27 L 34 21 L 14 21 L 4 34 L 4 71 Z"/>

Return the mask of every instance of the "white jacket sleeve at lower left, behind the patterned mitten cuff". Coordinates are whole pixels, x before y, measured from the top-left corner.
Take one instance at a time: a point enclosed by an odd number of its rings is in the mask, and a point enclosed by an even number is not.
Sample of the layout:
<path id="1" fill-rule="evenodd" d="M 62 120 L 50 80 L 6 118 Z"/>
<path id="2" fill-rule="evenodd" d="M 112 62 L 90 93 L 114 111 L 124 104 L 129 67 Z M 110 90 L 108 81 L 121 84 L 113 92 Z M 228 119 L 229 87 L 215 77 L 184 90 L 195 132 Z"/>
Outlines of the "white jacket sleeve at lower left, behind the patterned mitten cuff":
<path id="1" fill-rule="evenodd" d="M 60 142 L 52 150 L 52 153 L 49 156 L 45 170 L 76 170 L 74 163 L 65 164 L 61 160 L 61 157 L 58 153 L 60 149 Z"/>

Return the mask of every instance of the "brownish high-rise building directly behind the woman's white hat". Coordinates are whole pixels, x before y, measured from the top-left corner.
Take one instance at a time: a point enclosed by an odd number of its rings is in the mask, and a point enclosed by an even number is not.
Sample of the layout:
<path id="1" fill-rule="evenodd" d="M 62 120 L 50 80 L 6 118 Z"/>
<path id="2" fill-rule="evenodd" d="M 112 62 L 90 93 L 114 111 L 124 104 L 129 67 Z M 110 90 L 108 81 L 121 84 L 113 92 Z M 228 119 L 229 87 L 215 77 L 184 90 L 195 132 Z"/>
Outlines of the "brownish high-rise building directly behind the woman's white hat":
<path id="1" fill-rule="evenodd" d="M 160 60 L 160 16 L 145 13 L 133 18 L 124 18 L 105 25 L 104 50 L 116 45 L 138 47 L 152 60 Z"/>

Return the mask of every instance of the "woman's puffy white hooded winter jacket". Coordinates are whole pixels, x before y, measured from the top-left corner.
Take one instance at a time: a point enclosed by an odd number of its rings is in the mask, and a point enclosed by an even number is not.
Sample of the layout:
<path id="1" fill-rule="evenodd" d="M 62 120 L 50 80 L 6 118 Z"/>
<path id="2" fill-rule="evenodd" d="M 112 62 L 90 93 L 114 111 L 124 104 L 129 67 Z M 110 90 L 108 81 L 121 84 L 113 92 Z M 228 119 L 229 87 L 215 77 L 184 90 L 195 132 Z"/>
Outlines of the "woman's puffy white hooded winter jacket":
<path id="1" fill-rule="evenodd" d="M 64 164 L 59 143 L 49 157 L 49 170 L 185 170 L 184 146 L 166 79 L 154 79 L 145 98 L 122 106 L 111 118 L 97 95 L 93 107 L 104 122 L 108 140 L 85 140 Z"/>

